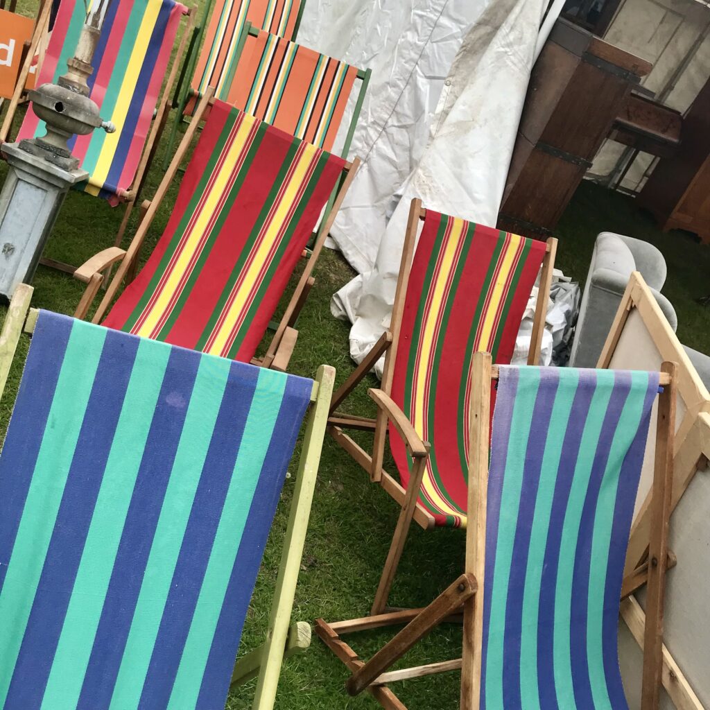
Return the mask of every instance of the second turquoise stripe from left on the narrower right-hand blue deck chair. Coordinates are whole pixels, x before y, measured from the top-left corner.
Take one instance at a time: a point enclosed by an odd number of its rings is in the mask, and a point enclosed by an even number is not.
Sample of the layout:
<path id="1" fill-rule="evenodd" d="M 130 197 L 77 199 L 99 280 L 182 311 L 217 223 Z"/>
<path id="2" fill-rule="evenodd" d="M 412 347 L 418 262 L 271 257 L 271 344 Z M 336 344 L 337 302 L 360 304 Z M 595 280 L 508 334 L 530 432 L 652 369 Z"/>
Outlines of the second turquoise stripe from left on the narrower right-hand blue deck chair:
<path id="1" fill-rule="evenodd" d="M 564 435 L 574 402 L 574 391 L 579 381 L 577 370 L 560 371 L 559 388 L 552 405 L 547 439 L 540 442 L 545 446 L 542 457 L 542 471 L 557 471 L 562 456 Z M 569 388 L 569 389 L 568 389 Z M 570 391 L 570 389 L 572 391 Z M 522 449 L 521 449 L 522 451 Z M 545 562 L 547 533 L 550 530 L 550 514 L 555 486 L 544 485 L 537 488 L 535 514 L 530 528 L 528 567 L 525 572 L 523 591 L 523 628 L 520 636 L 520 700 L 522 710 L 540 710 L 540 692 L 537 686 L 537 623 L 540 611 L 540 584 L 542 566 Z"/>

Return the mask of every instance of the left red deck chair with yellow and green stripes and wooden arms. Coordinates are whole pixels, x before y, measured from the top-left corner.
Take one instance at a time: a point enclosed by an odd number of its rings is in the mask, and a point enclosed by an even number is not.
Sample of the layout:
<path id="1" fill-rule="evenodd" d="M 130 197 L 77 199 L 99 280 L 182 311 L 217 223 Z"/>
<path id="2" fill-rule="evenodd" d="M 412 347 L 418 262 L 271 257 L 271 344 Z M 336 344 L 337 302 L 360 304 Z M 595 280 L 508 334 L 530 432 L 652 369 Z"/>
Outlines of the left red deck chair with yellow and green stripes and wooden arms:
<path id="1" fill-rule="evenodd" d="M 209 92 L 200 111 L 209 104 Z M 77 278 L 89 287 L 77 316 L 84 317 L 110 263 L 122 260 L 94 322 L 138 255 L 160 200 L 195 133 L 194 121 L 158 188 L 128 251 L 104 250 Z M 337 182 L 336 204 L 321 224 L 263 360 L 288 364 L 295 317 L 313 283 L 315 259 L 349 187 L 356 165 L 214 101 L 188 165 L 170 222 L 148 263 L 121 293 L 103 321 L 145 337 L 249 362 L 256 354 L 290 276 Z"/>

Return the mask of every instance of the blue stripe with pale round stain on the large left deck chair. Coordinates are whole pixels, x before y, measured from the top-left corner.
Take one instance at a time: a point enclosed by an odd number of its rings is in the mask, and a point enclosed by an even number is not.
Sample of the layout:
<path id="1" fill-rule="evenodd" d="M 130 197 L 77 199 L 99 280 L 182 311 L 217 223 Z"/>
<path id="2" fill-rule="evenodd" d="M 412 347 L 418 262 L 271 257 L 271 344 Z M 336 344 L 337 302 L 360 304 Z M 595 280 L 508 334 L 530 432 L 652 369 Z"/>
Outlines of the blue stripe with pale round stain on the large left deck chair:
<path id="1" fill-rule="evenodd" d="M 200 357 L 170 353 L 77 710 L 111 701 Z"/>

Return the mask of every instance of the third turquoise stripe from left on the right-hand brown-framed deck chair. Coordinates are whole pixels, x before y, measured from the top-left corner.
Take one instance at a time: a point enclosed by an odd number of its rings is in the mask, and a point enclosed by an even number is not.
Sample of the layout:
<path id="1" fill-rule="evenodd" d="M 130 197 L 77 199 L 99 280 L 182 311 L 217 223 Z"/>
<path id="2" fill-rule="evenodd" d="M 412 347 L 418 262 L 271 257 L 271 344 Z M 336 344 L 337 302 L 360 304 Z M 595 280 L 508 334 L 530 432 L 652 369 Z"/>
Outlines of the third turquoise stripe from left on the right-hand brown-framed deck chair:
<path id="1" fill-rule="evenodd" d="M 591 398 L 589 416 L 584 424 L 577 466 L 572 477 L 567 510 L 564 514 L 562 537 L 559 544 L 559 559 L 574 559 L 579 536 L 584 498 L 589 487 L 594 452 L 599 443 L 603 417 L 613 390 L 613 371 L 600 370 L 596 373 L 597 387 Z M 592 413 L 597 413 L 594 416 Z M 561 564 L 557 571 L 555 586 L 555 632 L 552 661 L 555 672 L 555 687 L 558 698 L 574 698 L 572 683 L 572 657 L 569 654 L 570 608 L 572 606 L 572 577 L 574 565 Z"/>

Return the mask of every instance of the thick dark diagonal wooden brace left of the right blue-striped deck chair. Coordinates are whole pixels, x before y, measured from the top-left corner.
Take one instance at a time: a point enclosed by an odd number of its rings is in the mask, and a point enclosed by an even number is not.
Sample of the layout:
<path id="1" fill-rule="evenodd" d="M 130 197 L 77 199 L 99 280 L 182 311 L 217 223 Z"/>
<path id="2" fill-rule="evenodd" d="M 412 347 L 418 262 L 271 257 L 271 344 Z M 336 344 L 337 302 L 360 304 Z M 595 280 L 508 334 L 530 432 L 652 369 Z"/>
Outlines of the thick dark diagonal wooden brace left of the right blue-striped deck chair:
<path id="1" fill-rule="evenodd" d="M 356 670 L 346 683 L 349 694 L 364 691 L 386 668 L 400 659 L 420 639 L 438 626 L 452 611 L 476 593 L 476 578 L 462 574 L 454 584 L 444 589 L 422 613 L 410 621 L 389 643 L 386 643 L 366 664 Z"/>

